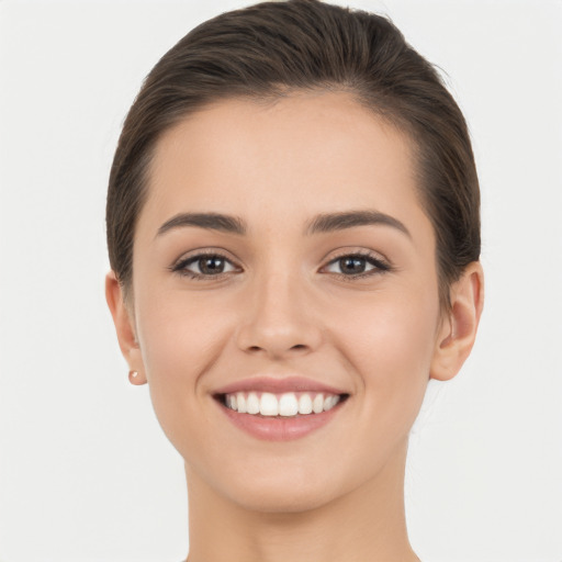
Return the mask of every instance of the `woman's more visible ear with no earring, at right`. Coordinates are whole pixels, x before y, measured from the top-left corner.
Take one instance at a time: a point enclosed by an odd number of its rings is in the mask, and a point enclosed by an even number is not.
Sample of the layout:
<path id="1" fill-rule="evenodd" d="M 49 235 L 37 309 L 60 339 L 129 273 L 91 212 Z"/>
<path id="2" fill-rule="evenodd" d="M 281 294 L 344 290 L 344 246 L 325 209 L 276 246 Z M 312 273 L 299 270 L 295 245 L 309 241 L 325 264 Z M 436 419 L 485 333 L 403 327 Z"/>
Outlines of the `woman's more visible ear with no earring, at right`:
<path id="1" fill-rule="evenodd" d="M 440 326 L 430 378 L 452 379 L 469 357 L 484 305 L 484 272 L 480 261 L 469 263 L 462 277 L 451 286 L 451 311 Z"/>

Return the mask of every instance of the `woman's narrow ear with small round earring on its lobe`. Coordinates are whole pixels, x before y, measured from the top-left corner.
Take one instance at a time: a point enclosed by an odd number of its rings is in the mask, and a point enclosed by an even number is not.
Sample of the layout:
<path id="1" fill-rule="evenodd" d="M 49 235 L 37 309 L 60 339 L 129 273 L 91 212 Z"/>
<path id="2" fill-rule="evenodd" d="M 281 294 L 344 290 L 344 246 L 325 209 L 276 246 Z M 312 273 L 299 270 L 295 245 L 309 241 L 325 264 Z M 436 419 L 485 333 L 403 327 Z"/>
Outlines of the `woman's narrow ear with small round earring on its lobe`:
<path id="1" fill-rule="evenodd" d="M 133 384 L 145 384 L 146 373 L 136 340 L 135 326 L 123 297 L 123 289 L 113 271 L 105 276 L 105 300 L 113 316 L 121 352 L 131 369 L 128 380 Z"/>

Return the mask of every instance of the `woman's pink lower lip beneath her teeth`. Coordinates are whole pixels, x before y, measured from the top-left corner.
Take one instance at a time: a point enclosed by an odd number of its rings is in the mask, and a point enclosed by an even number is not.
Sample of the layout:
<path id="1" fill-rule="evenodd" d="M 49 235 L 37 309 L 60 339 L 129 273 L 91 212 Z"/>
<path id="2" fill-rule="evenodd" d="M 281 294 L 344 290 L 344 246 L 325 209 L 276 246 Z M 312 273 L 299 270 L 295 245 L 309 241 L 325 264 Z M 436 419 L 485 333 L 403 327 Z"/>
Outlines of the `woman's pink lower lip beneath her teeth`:
<path id="1" fill-rule="evenodd" d="M 221 403 L 218 405 L 235 426 L 252 437 L 263 441 L 291 441 L 325 426 L 340 411 L 345 402 L 338 402 L 331 409 L 322 414 L 305 414 L 290 417 L 239 414 Z"/>

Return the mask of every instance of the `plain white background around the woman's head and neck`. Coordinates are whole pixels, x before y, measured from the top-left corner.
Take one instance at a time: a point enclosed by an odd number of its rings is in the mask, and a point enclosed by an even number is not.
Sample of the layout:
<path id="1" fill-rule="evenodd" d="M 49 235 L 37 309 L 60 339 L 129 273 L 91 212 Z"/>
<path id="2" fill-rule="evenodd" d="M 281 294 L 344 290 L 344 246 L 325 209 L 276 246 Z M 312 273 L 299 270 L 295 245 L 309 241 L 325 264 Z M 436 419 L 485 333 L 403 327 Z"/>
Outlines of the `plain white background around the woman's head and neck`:
<path id="1" fill-rule="evenodd" d="M 105 188 L 144 76 L 248 3 L 0 1 L 2 562 L 187 554 L 181 459 L 127 383 L 104 303 Z M 562 2 L 352 5 L 447 71 L 483 193 L 485 312 L 413 435 L 413 546 L 427 562 L 561 562 Z"/>

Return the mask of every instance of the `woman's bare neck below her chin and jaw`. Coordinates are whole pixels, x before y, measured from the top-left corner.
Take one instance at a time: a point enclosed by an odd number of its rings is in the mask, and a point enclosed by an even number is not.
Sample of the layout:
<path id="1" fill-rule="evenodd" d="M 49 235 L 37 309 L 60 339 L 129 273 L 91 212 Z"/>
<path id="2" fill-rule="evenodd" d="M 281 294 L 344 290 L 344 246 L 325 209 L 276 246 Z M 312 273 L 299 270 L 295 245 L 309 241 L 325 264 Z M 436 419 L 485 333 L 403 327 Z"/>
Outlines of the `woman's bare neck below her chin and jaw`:
<path id="1" fill-rule="evenodd" d="M 187 467 L 188 562 L 415 562 L 404 513 L 405 448 L 372 481 L 300 513 L 248 510 Z"/>

